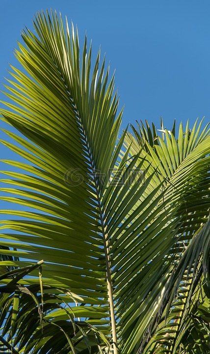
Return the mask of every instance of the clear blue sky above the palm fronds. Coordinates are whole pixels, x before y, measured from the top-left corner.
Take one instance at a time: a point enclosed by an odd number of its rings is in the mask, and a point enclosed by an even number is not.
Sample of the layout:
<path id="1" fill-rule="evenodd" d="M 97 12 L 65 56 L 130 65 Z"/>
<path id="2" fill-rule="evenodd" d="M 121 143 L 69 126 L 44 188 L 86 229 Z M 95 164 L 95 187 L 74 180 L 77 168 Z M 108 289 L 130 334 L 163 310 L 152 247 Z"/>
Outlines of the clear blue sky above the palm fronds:
<path id="1" fill-rule="evenodd" d="M 1 0 L 0 82 L 8 62 L 17 64 L 21 29 L 46 8 L 78 25 L 81 44 L 85 31 L 95 52 L 101 44 L 116 69 L 124 126 L 148 119 L 158 128 L 160 116 L 168 129 L 174 118 L 210 121 L 209 0 Z"/>

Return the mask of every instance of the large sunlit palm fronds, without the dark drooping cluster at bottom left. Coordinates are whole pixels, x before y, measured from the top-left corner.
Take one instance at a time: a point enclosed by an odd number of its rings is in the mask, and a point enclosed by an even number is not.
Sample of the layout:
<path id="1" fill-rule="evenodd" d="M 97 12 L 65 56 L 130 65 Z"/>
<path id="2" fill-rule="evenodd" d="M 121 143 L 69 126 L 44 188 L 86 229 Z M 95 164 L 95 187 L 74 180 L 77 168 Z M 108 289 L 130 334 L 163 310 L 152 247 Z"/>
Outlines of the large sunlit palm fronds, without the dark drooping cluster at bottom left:
<path id="1" fill-rule="evenodd" d="M 181 124 L 176 139 L 175 127 L 160 137 L 146 123 L 133 128 L 136 139 L 127 130 L 118 139 L 122 111 L 100 52 L 92 68 L 86 38 L 80 53 L 78 32 L 56 13 L 38 13 L 34 26 L 15 52 L 24 70 L 12 67 L 13 103 L 1 109 L 23 135 L 4 130 L 14 143 L 2 144 L 29 162 L 2 160 L 17 171 L 2 172 L 1 199 L 25 210 L 1 210 L 11 215 L 1 229 L 11 231 L 0 235 L 0 266 L 43 259 L 44 285 L 77 294 L 75 318 L 104 332 L 115 354 L 176 353 L 185 329 L 159 343 L 170 333 L 163 317 L 173 317 L 183 288 L 184 304 L 199 293 L 198 280 L 209 296 L 210 130 Z M 60 309 L 56 318 L 68 316 Z M 66 353 L 84 351 L 68 345 Z"/>

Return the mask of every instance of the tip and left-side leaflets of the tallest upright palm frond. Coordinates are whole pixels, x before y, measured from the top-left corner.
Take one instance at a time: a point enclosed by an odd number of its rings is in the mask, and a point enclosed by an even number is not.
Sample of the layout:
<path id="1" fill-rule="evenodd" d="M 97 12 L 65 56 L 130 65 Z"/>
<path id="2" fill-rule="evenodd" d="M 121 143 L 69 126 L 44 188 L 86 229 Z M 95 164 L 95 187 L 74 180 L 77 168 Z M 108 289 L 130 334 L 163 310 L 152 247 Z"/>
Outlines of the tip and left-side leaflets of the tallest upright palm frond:
<path id="1" fill-rule="evenodd" d="M 82 302 L 91 306 L 80 307 L 80 317 L 100 326 L 109 323 L 108 299 L 113 301 L 110 275 L 108 292 L 106 285 L 110 270 L 102 181 L 109 180 L 122 145 L 123 140 L 115 149 L 122 113 L 115 120 L 118 99 L 116 94 L 112 98 L 114 78 L 107 85 L 109 69 L 105 72 L 103 61 L 99 71 L 100 53 L 90 78 L 91 49 L 87 54 L 86 39 L 80 73 L 78 33 L 72 28 L 70 35 L 67 23 L 64 33 L 56 14 L 52 19 L 38 14 L 34 25 L 39 39 L 30 31 L 23 33 L 27 48 L 20 44 L 20 52 L 16 52 L 30 77 L 13 68 L 16 81 L 9 81 L 11 93 L 6 94 L 15 102 L 7 104 L 15 112 L 1 111 L 4 119 L 29 139 L 7 131 L 21 148 L 2 143 L 30 161 L 4 160 L 28 173 L 4 172 L 12 179 L 3 182 L 16 188 L 1 191 L 16 197 L 1 198 L 32 210 L 1 210 L 21 218 L 1 222 L 2 229 L 13 231 L 1 235 L 1 244 L 12 247 L 15 242 L 17 251 L 5 250 L 20 257 L 13 266 L 44 259 L 45 284 L 81 295 Z M 35 281 L 27 279 L 28 284 Z M 114 326 L 113 309 L 111 316 Z"/>

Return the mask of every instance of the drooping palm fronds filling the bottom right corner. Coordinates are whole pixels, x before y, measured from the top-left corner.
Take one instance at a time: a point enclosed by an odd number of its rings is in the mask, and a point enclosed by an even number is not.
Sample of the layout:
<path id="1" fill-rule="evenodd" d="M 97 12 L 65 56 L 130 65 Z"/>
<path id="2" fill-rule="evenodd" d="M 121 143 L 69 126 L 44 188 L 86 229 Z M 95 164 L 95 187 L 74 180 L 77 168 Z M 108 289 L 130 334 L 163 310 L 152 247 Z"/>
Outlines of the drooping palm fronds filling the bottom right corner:
<path id="1" fill-rule="evenodd" d="M 144 353 L 208 353 L 210 301 L 205 259 L 210 221 L 197 232 L 173 274 L 175 291 Z M 205 279 L 205 277 L 206 279 Z M 178 279 L 176 281 L 176 279 Z M 177 285 L 176 285 L 177 284 Z M 194 335 L 193 335 L 194 333 Z"/>

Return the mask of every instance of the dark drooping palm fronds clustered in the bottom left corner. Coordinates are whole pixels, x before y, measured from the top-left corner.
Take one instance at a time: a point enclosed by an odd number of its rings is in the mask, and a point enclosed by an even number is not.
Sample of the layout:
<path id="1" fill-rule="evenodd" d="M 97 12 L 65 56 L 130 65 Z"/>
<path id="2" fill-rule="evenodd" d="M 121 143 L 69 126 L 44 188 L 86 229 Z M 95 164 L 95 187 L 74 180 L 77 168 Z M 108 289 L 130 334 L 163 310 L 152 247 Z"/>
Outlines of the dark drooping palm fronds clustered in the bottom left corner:
<path id="1" fill-rule="evenodd" d="M 23 286 L 19 282 L 43 261 L 18 268 L 0 277 L 0 342 L 14 354 L 20 353 L 107 353 L 105 335 L 75 316 L 69 303 L 81 300 L 67 290 L 40 285 Z M 60 295 L 60 292 L 63 294 Z M 79 307 L 78 307 L 79 309 Z M 2 348 L 1 348 L 2 350 Z"/>

